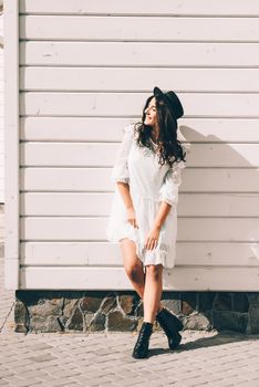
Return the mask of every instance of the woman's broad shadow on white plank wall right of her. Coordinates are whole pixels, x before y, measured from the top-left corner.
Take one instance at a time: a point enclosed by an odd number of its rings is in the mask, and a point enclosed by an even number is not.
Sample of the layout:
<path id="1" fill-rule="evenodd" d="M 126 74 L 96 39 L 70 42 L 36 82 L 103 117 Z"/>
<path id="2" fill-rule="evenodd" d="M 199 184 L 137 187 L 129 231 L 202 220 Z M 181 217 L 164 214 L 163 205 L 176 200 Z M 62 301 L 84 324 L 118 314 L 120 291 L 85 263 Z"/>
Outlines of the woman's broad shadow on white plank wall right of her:
<path id="1" fill-rule="evenodd" d="M 176 262 L 164 270 L 164 287 L 256 290 L 258 144 L 240 137 L 227 143 L 186 125 L 179 130 L 191 146 L 180 187 Z"/>

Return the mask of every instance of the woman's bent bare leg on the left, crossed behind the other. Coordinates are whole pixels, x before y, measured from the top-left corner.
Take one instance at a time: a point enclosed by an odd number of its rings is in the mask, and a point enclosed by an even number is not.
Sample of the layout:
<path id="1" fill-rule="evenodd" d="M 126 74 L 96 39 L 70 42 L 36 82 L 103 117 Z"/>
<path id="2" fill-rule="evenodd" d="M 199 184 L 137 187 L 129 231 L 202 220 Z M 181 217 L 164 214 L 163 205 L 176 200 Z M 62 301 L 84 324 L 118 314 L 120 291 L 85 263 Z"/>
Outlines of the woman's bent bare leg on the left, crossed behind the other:
<path id="1" fill-rule="evenodd" d="M 133 287 L 135 289 L 139 297 L 143 300 L 146 274 L 143 270 L 143 263 L 136 254 L 136 245 L 131 239 L 124 238 L 123 240 L 121 240 L 121 250 L 126 274 L 130 281 L 132 282 Z M 157 312 L 159 312 L 162 307 L 163 305 L 160 304 L 160 302 L 158 302 Z"/>

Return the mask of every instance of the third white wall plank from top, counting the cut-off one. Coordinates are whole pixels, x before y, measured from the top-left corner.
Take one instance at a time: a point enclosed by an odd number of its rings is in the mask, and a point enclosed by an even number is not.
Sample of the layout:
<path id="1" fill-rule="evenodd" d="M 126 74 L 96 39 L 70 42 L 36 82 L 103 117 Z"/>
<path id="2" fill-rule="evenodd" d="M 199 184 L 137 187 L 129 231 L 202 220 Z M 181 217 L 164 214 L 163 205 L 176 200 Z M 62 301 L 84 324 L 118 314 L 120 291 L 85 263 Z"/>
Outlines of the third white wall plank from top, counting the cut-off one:
<path id="1" fill-rule="evenodd" d="M 231 66 L 259 65 L 259 43 L 39 42 L 20 43 L 22 65 Z M 159 52 L 159 55 L 157 55 Z"/>

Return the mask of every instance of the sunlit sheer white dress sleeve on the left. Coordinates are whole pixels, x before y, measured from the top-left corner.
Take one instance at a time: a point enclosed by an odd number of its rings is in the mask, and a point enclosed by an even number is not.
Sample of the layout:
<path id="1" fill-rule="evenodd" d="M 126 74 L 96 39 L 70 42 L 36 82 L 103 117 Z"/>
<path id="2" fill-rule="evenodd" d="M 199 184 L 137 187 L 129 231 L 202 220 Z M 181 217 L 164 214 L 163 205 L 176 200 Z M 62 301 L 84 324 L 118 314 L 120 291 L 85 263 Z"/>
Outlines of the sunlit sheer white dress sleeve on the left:
<path id="1" fill-rule="evenodd" d="M 134 125 L 125 126 L 123 128 L 123 139 L 120 144 L 120 148 L 112 169 L 111 180 L 113 182 L 123 181 L 128 184 L 130 175 L 127 168 L 127 158 L 134 137 Z"/>

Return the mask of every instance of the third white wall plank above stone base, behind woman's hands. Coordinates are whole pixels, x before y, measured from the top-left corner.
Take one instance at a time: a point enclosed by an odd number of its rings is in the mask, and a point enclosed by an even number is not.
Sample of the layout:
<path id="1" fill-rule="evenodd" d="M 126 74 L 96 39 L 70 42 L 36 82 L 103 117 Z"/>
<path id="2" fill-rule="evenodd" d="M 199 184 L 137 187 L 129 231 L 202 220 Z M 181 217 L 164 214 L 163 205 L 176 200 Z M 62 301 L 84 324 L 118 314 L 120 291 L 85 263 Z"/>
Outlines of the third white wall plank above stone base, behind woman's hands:
<path id="1" fill-rule="evenodd" d="M 107 218 L 25 217 L 20 219 L 21 240 L 104 241 Z M 258 218 L 179 218 L 179 241 L 259 241 Z"/>

